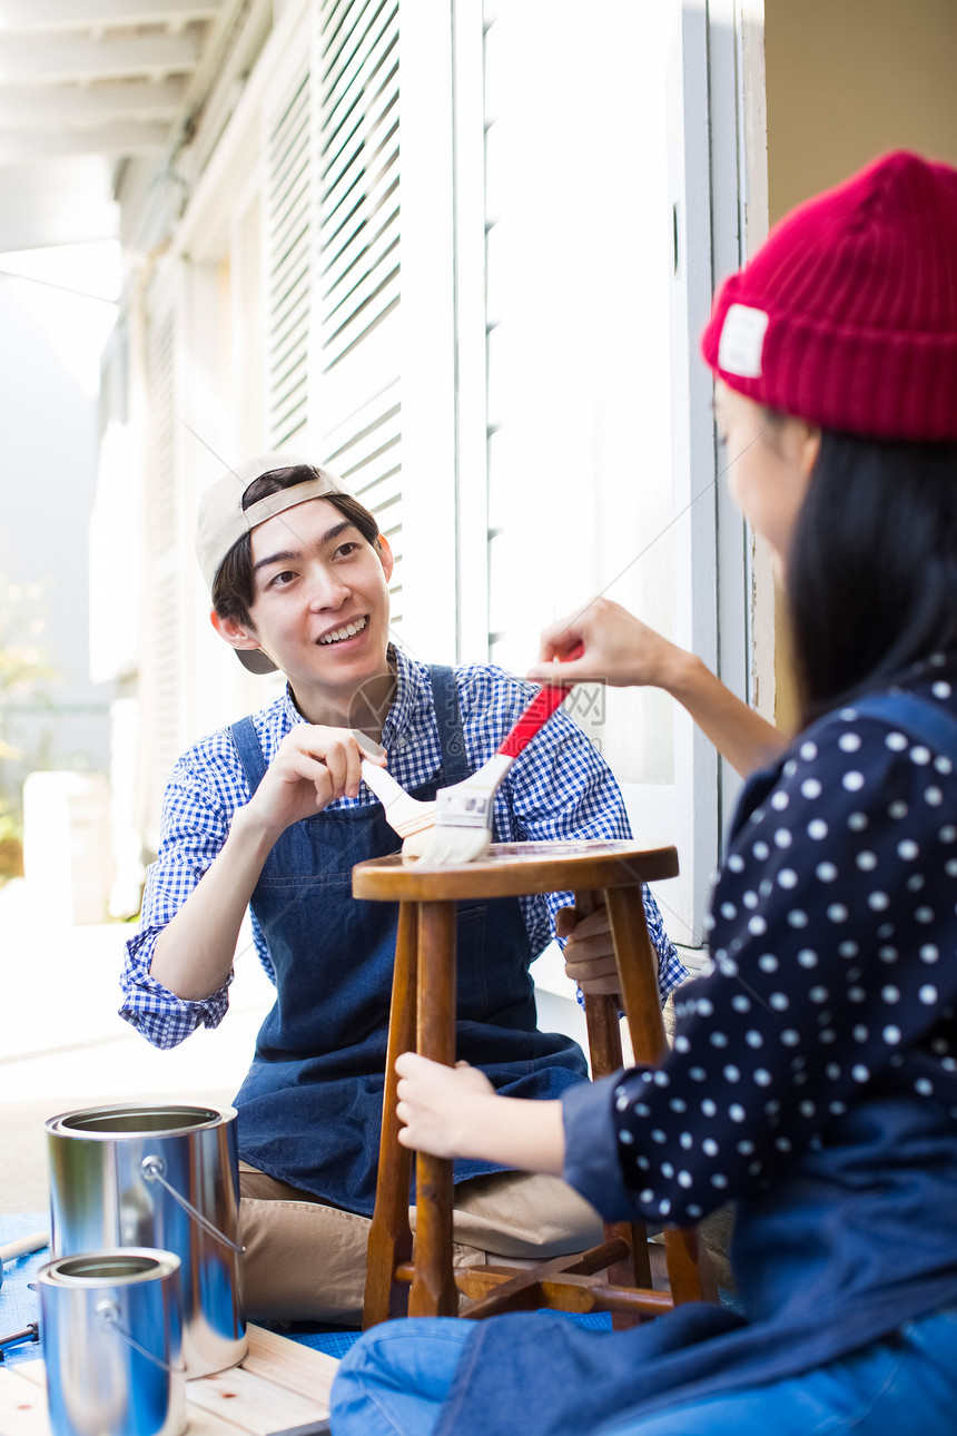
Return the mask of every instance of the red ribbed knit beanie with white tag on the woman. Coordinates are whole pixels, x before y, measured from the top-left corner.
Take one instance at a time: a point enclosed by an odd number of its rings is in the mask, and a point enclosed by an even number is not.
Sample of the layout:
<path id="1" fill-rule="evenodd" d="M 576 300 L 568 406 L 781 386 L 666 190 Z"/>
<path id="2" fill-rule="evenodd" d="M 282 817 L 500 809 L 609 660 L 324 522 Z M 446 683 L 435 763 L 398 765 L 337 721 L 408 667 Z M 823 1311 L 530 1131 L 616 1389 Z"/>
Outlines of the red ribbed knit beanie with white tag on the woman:
<path id="1" fill-rule="evenodd" d="M 957 441 L 957 169 L 898 151 L 792 210 L 717 292 L 702 352 L 822 428 Z"/>

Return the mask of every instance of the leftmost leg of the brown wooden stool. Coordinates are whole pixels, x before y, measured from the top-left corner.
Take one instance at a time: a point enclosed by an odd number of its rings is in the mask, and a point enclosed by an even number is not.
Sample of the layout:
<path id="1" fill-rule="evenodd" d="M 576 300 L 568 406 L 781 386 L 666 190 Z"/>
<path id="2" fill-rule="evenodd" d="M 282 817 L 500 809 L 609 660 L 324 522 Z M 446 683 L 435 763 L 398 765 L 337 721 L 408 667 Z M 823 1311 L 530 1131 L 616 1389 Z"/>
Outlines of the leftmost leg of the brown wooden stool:
<path id="1" fill-rule="evenodd" d="M 415 1047 L 415 1014 L 418 995 L 418 908 L 413 902 L 399 905 L 396 935 L 396 965 L 392 978 L 389 1008 L 389 1045 L 386 1050 L 386 1087 L 382 1103 L 382 1140 L 376 1176 L 376 1211 L 369 1229 L 366 1300 L 363 1327 L 374 1327 L 389 1317 L 405 1317 L 409 1288 L 395 1279 L 399 1262 L 412 1261 L 412 1228 L 409 1226 L 409 1185 L 412 1152 L 399 1144 L 396 1117 L 396 1057 Z"/>

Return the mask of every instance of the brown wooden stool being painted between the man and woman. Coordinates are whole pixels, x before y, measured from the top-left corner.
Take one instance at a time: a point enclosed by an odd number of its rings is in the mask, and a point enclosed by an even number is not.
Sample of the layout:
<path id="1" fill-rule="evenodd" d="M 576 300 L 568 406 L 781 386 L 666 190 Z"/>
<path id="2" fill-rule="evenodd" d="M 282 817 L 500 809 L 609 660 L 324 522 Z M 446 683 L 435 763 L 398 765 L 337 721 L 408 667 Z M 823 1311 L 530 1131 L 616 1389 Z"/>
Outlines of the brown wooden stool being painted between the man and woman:
<path id="1" fill-rule="evenodd" d="M 641 883 L 677 873 L 673 847 L 628 841 L 494 843 L 476 863 L 423 867 L 399 854 L 359 863 L 353 896 L 399 902 L 396 965 L 389 1014 L 386 1088 L 376 1209 L 369 1235 L 363 1325 L 389 1317 L 453 1317 L 459 1291 L 478 1298 L 463 1315 L 528 1307 L 610 1310 L 616 1325 L 657 1315 L 679 1301 L 716 1300 L 707 1252 L 694 1229 L 666 1232 L 671 1294 L 650 1290 L 647 1232 L 641 1222 L 605 1225 L 605 1242 L 532 1269 L 452 1269 L 452 1162 L 416 1153 L 416 1261 L 412 1264 L 409 1179 L 412 1152 L 399 1143 L 396 1058 L 412 1048 L 455 1064 L 456 902 L 572 890 L 577 906 L 604 902 L 618 965 L 620 994 L 634 1060 L 653 1066 L 667 1053 L 657 962 L 644 920 Z M 594 896 L 593 896 L 594 895 Z M 587 998 L 593 1077 L 621 1067 L 618 1010 L 613 998 Z M 607 1279 L 595 1272 L 607 1268 Z M 410 1287 L 410 1290 L 409 1290 Z M 624 1314 L 624 1315 L 621 1315 Z"/>

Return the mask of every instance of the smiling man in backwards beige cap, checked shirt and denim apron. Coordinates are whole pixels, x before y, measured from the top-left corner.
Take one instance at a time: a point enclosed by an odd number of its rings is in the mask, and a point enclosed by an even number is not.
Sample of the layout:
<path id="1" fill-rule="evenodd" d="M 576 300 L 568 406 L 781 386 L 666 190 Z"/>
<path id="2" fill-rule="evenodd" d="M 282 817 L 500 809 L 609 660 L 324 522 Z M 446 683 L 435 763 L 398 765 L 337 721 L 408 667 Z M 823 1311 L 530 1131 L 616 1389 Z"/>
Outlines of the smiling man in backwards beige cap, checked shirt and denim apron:
<path id="1" fill-rule="evenodd" d="M 235 1099 L 247 1311 L 350 1321 L 374 1200 L 396 929 L 392 905 L 353 900 L 350 875 L 397 847 L 362 784 L 356 731 L 429 800 L 495 751 L 531 689 L 488 665 L 429 668 L 402 653 L 389 639 L 387 541 L 339 480 L 296 455 L 251 460 L 214 484 L 197 546 L 218 633 L 254 671 L 278 668 L 287 688 L 176 764 L 122 1015 L 159 1047 L 220 1022 L 251 906 L 277 1002 Z M 495 837 L 627 836 L 608 768 L 557 714 L 499 788 Z M 499 1091 L 555 1097 L 585 1080 L 577 1044 L 538 1031 L 528 972 L 567 902 L 461 905 L 458 1055 Z M 684 969 L 649 895 L 646 909 L 664 997 Z M 601 912 L 575 938 L 598 964 L 611 951 Z M 462 1162 L 455 1179 L 461 1262 L 600 1239 L 594 1209 L 554 1178 Z"/>

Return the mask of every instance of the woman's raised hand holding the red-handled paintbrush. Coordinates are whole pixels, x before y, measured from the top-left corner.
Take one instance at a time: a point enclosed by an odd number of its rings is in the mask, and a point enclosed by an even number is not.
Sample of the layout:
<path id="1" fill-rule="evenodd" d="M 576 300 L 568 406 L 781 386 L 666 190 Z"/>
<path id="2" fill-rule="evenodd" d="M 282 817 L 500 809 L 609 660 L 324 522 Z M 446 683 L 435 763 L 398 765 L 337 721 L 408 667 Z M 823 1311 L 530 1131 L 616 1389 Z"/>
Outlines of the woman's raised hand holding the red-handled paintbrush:
<path id="1" fill-rule="evenodd" d="M 584 653 L 558 666 L 554 661 L 581 643 Z M 541 655 L 528 678 L 538 684 L 581 684 L 604 679 L 616 688 L 628 685 L 670 688 L 673 673 L 690 655 L 636 619 L 620 603 L 591 599 L 578 613 L 542 632 Z"/>

